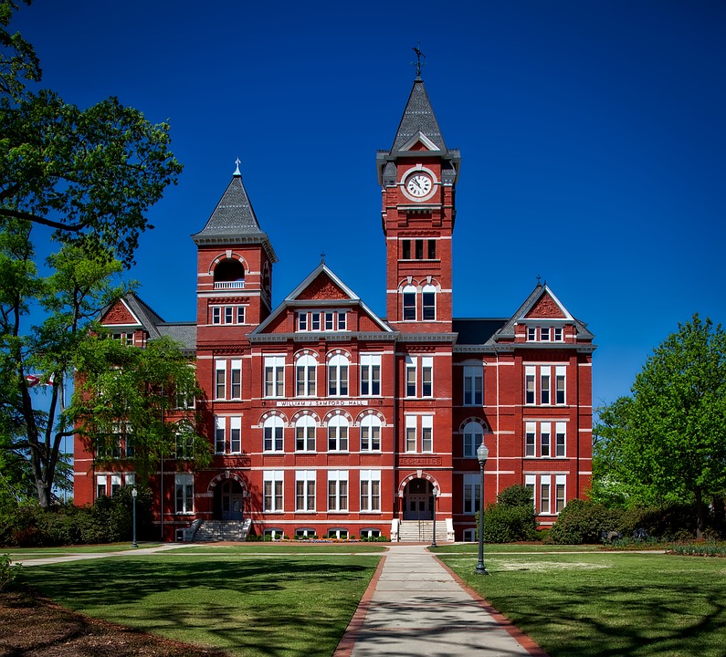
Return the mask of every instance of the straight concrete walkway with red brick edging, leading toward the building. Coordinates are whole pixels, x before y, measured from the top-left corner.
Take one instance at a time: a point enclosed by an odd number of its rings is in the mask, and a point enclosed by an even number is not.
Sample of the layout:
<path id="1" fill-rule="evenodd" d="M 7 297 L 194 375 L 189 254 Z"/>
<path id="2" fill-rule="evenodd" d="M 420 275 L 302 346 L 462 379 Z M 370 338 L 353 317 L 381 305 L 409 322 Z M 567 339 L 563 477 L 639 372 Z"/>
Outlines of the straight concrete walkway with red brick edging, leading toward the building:
<path id="1" fill-rule="evenodd" d="M 369 655 L 547 657 L 426 546 L 405 544 L 386 552 L 333 657 Z"/>

